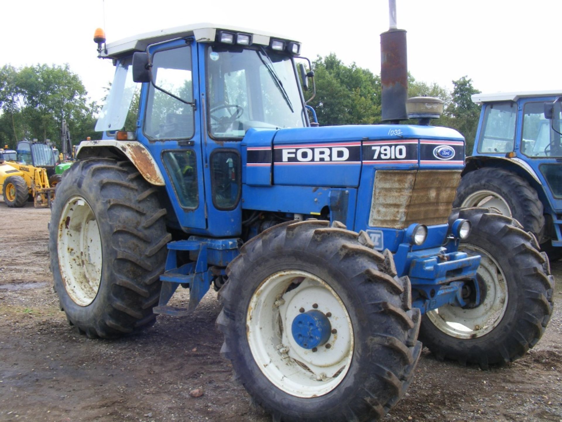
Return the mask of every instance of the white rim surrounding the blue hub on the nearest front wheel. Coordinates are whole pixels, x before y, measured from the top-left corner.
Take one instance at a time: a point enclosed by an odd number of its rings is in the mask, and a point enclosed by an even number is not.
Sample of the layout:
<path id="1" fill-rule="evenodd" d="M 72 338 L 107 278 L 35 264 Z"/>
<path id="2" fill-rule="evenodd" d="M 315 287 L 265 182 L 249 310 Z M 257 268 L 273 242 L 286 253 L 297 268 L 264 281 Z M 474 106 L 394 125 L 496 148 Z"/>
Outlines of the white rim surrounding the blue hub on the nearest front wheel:
<path id="1" fill-rule="evenodd" d="M 289 286 L 291 290 L 287 290 Z M 329 348 L 320 345 L 315 352 L 298 345 L 291 333 L 300 309 L 309 311 L 313 304 L 318 304 L 318 311 L 332 314 L 330 325 L 337 331 L 328 339 Z M 318 397 L 345 378 L 353 355 L 351 319 L 336 292 L 318 277 L 298 270 L 269 276 L 253 294 L 246 321 L 254 360 L 271 383 L 285 393 Z"/>

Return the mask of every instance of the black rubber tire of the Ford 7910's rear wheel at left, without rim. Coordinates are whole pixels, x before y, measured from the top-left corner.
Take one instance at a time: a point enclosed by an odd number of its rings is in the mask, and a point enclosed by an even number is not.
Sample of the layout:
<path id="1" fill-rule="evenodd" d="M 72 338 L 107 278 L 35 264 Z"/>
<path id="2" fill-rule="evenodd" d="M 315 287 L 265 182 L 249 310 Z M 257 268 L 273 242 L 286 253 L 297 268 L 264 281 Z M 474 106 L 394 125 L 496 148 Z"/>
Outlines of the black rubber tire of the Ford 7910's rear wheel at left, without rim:
<path id="1" fill-rule="evenodd" d="M 150 325 L 156 318 L 152 308 L 160 296 L 160 274 L 164 272 L 166 244 L 171 235 L 166 232 L 162 218 L 165 209 L 161 208 L 156 195 L 151 195 L 153 187 L 142 177 L 131 177 L 135 172 L 137 170 L 129 161 L 86 159 L 66 170 L 67 174 L 58 186 L 58 203 L 64 199 L 62 195 L 67 186 L 76 184 L 102 204 L 101 215 L 96 218 L 105 250 L 103 256 L 109 257 L 111 262 L 108 266 L 110 275 L 103 276 L 108 291 L 100 291 L 98 295 L 106 295 L 106 306 L 99 315 L 92 315 L 87 321 L 76 320 L 69 306 L 64 309 L 69 322 L 88 336 L 115 338 Z M 57 208 L 59 213 L 62 206 L 64 204 Z M 53 242 L 57 237 L 56 218 L 57 212 L 53 212 L 52 260 L 56 259 L 57 246 Z M 106 225 L 105 230 L 102 225 Z M 53 262 L 53 268 L 57 267 L 58 264 Z M 58 290 L 64 290 L 58 271 L 55 273 L 57 277 L 61 287 Z"/>

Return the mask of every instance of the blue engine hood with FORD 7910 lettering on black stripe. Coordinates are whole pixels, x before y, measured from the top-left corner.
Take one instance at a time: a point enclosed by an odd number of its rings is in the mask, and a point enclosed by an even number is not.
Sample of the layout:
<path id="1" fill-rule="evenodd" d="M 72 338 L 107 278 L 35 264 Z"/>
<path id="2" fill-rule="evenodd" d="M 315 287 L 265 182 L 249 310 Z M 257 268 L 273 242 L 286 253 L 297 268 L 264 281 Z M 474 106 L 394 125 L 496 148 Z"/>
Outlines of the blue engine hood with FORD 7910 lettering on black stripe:
<path id="1" fill-rule="evenodd" d="M 464 138 L 420 125 L 251 129 L 242 155 L 248 184 L 356 187 L 365 167 L 463 168 Z"/>

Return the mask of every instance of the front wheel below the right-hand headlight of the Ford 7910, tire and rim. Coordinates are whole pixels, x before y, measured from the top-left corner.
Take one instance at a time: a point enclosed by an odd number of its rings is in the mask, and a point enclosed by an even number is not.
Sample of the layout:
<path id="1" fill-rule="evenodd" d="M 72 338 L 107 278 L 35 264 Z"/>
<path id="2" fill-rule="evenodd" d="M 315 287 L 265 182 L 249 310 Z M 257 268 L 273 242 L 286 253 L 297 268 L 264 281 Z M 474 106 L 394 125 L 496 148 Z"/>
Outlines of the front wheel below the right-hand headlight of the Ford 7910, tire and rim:
<path id="1" fill-rule="evenodd" d="M 514 361 L 541 338 L 552 314 L 554 277 L 536 240 L 511 218 L 487 209 L 456 210 L 472 232 L 459 250 L 481 255 L 476 307 L 446 305 L 422 319 L 420 340 L 439 359 L 481 367 Z"/>

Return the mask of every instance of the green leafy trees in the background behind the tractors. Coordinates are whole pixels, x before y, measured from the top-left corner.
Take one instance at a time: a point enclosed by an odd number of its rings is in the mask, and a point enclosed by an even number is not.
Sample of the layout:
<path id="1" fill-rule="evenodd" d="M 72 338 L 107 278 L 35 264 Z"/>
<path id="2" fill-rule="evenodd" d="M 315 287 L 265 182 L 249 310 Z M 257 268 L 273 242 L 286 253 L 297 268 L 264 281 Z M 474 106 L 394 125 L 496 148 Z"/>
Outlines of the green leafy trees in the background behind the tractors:
<path id="1" fill-rule="evenodd" d="M 355 63 L 345 65 L 332 53 L 314 61 L 316 96 L 310 105 L 321 125 L 380 123 L 380 76 Z M 432 124 L 457 129 L 472 151 L 480 107 L 470 100 L 479 91 L 464 76 L 452 81 L 454 89 L 427 84 L 409 75 L 409 97 L 432 96 L 445 102 L 444 113 Z M 305 93 L 305 99 L 310 91 Z M 138 101 L 138 97 L 135 97 Z M 0 69 L 0 146 L 15 147 L 23 138 L 50 139 L 60 147 L 61 123 L 66 119 L 75 143 L 94 132 L 100 106 L 88 100 L 80 77 L 69 65 L 35 65 Z M 136 116 L 131 116 L 132 122 Z M 413 120 L 406 122 L 415 124 Z M 130 129 L 129 129 L 130 130 Z"/>

